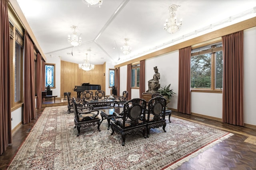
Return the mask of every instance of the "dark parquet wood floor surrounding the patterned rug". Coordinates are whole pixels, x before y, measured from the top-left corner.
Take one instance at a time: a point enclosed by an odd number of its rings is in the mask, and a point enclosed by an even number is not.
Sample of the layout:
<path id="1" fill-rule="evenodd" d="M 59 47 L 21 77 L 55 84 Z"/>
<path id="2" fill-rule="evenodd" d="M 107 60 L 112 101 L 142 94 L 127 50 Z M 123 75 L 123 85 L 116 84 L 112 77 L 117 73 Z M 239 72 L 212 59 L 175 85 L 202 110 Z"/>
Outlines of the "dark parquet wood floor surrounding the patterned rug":
<path id="1" fill-rule="evenodd" d="M 53 100 L 47 100 L 43 103 L 43 106 L 56 106 L 56 104 L 60 106 L 67 105 L 66 101 L 56 99 L 55 104 Z M 36 119 L 28 124 L 21 125 L 14 133 L 12 144 L 9 145 L 6 152 L 0 155 L 0 170 L 7 168 L 43 110 L 44 108 L 37 109 Z M 211 149 L 198 154 L 198 156 L 190 159 L 188 162 L 184 162 L 176 170 L 256 170 L 256 129 L 229 125 L 220 121 L 186 115 L 175 111 L 172 111 L 172 116 L 234 134 Z"/>

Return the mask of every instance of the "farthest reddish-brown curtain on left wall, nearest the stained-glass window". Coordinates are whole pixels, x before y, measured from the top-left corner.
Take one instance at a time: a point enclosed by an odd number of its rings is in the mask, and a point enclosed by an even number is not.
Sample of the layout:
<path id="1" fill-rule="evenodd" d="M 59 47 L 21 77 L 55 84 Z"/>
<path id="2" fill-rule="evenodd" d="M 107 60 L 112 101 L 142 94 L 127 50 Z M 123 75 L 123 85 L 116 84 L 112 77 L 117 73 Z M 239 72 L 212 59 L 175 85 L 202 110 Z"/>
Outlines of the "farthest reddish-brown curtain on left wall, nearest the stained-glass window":
<path id="1" fill-rule="evenodd" d="M 42 59 L 42 56 L 40 53 L 37 53 L 37 60 L 36 60 L 36 108 L 40 109 L 42 107 L 42 91 L 45 90 L 45 84 L 44 84 L 44 60 Z"/>

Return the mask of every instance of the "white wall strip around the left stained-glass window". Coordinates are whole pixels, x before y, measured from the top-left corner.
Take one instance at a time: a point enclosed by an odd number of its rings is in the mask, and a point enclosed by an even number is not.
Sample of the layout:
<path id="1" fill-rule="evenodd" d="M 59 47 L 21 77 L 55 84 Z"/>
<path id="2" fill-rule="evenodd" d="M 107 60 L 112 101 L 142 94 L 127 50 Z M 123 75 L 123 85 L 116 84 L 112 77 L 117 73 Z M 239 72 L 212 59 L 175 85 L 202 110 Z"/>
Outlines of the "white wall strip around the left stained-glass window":
<path id="1" fill-rule="evenodd" d="M 60 58 L 59 57 L 46 57 L 46 63 L 55 64 L 55 87 L 51 88 L 52 95 L 60 98 Z"/>

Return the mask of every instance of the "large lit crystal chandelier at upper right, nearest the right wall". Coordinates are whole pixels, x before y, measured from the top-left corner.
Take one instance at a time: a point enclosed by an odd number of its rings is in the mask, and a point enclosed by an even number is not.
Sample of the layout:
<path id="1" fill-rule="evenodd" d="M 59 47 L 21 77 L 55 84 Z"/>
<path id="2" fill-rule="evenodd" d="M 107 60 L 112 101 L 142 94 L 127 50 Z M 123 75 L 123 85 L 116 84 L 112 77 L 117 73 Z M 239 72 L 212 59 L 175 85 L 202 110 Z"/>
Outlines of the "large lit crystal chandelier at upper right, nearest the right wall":
<path id="1" fill-rule="evenodd" d="M 181 27 L 182 21 L 180 20 L 180 23 L 178 23 L 176 18 L 176 11 L 178 7 L 178 5 L 169 6 L 170 18 L 166 20 L 166 23 L 164 23 L 164 30 L 169 33 L 176 33 Z"/>

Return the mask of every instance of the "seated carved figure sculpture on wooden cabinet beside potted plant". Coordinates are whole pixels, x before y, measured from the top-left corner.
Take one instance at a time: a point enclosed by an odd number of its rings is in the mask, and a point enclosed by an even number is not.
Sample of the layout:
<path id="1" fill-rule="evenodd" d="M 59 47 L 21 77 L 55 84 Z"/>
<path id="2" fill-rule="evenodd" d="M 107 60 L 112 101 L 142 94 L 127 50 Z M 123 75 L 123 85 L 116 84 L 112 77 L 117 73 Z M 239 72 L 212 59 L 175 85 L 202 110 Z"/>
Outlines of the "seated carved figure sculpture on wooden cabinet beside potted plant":
<path id="1" fill-rule="evenodd" d="M 158 93 L 158 89 L 160 88 L 160 73 L 158 72 L 157 66 L 154 67 L 154 72 L 153 78 L 148 80 L 148 90 L 146 91 L 148 93 Z"/>

